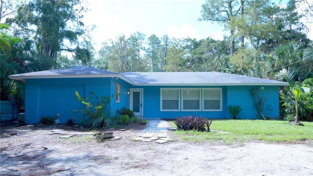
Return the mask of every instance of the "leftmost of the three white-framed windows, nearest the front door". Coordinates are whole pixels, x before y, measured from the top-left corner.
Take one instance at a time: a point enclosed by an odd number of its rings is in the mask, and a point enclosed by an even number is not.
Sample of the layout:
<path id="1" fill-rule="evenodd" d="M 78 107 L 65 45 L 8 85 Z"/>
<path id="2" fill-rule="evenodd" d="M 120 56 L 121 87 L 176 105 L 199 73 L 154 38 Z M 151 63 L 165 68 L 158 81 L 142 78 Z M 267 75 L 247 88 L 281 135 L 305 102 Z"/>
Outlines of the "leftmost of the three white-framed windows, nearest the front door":
<path id="1" fill-rule="evenodd" d="M 161 88 L 161 111 L 180 111 L 179 89 Z"/>

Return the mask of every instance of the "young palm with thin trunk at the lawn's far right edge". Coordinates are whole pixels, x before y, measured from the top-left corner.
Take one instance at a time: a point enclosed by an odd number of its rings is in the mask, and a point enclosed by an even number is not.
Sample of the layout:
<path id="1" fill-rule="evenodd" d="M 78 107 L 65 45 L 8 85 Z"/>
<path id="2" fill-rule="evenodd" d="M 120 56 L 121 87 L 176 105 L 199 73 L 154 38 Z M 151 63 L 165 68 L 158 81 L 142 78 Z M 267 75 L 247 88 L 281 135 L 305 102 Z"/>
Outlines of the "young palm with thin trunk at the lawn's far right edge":
<path id="1" fill-rule="evenodd" d="M 281 79 L 281 80 L 286 80 L 289 85 L 290 85 L 290 90 L 293 93 L 294 97 L 289 97 L 287 95 L 285 95 L 284 93 L 281 93 L 281 98 L 283 99 L 283 101 L 285 101 L 284 105 L 293 105 L 295 106 L 295 123 L 299 124 L 299 109 L 301 110 L 302 107 L 298 104 L 298 99 L 299 96 L 303 93 L 308 93 L 310 92 L 310 88 L 308 87 L 308 85 L 295 85 L 294 82 L 294 77 L 295 75 L 297 75 L 298 70 L 294 69 L 294 68 L 290 68 L 290 69 L 285 69 L 283 68 L 283 70 L 280 70 L 277 74 L 277 76 Z"/>

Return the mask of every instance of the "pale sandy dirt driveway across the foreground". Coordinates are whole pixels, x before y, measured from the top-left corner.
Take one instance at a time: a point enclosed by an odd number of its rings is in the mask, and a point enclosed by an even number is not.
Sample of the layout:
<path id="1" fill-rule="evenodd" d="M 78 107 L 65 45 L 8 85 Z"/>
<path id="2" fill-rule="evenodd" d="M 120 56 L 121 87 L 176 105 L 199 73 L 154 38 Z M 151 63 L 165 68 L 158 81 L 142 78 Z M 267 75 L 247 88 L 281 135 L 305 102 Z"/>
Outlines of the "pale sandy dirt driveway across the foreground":
<path id="1" fill-rule="evenodd" d="M 121 136 L 119 140 L 97 142 L 84 136 L 61 139 L 61 135 L 48 134 L 56 128 L 65 127 L 1 127 L 0 171 L 20 175 L 313 175 L 309 142 L 136 142 L 132 138 L 143 127 L 134 124 L 126 131 L 112 130 Z M 3 154 L 36 147 L 48 149 L 12 158 Z M 69 170 L 55 172 L 60 169 Z"/>

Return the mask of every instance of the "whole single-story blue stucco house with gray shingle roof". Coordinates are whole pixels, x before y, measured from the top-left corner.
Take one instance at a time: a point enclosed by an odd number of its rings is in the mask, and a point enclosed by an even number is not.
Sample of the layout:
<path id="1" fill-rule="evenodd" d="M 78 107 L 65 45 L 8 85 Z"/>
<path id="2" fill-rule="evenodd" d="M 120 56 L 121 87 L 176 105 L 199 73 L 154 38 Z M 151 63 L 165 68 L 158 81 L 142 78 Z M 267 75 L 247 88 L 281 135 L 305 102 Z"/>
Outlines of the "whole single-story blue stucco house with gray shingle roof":
<path id="1" fill-rule="evenodd" d="M 176 118 L 195 115 L 207 118 L 232 118 L 228 105 L 240 105 L 242 119 L 256 119 L 249 90 L 264 87 L 268 97 L 265 116 L 279 116 L 279 86 L 286 82 L 219 72 L 127 72 L 114 73 L 89 66 L 38 71 L 10 75 L 26 81 L 25 118 L 36 123 L 40 116 L 55 116 L 64 123 L 73 117 L 72 111 L 81 108 L 75 91 L 81 96 L 95 92 L 97 96 L 115 97 L 110 101 L 113 110 L 127 107 L 136 116 Z M 118 94 L 117 94 L 118 93 Z M 84 120 L 84 115 L 75 118 Z"/>

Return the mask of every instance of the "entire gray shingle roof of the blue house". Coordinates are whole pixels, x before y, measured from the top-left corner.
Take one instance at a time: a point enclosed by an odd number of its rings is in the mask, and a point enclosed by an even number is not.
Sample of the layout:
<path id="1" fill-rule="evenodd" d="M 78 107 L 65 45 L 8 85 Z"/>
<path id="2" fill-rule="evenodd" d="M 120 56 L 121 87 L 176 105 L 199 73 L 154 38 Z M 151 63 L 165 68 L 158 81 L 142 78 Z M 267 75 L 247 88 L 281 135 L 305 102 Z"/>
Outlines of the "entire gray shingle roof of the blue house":
<path id="1" fill-rule="evenodd" d="M 120 77 L 134 85 L 288 85 L 286 82 L 220 72 L 126 72 L 114 73 L 89 66 L 10 75 L 11 79 L 64 77 Z"/>

